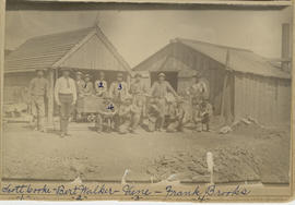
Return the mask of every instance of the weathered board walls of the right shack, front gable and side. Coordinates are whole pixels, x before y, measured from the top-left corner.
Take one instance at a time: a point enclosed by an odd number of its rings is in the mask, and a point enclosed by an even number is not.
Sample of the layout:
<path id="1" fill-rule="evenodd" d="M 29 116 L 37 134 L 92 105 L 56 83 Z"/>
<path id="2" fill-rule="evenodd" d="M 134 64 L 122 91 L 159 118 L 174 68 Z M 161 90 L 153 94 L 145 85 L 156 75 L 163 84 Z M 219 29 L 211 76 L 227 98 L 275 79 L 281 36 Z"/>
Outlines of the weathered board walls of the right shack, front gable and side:
<path id="1" fill-rule="evenodd" d="M 186 68 L 202 73 L 202 76 L 210 84 L 210 102 L 214 108 L 214 114 L 221 114 L 224 79 L 227 72 L 225 71 L 226 58 L 224 57 L 223 63 L 189 46 L 172 43 L 135 68 L 135 70 L 158 71 L 167 57 L 173 57 L 186 64 Z M 177 64 L 167 67 L 167 72 L 168 69 L 172 71 L 179 70 Z M 231 75 L 232 88 L 229 92 L 231 95 L 225 97 L 225 102 L 231 108 L 231 112 L 236 120 L 252 117 L 264 124 L 290 122 L 290 79 L 267 77 L 258 74 L 241 73 L 235 71 L 235 68 L 231 69 L 233 69 L 233 74 Z M 245 70 L 245 72 L 247 71 Z M 190 85 L 191 76 L 182 77 L 182 75 L 178 74 L 178 93 L 184 93 Z"/>

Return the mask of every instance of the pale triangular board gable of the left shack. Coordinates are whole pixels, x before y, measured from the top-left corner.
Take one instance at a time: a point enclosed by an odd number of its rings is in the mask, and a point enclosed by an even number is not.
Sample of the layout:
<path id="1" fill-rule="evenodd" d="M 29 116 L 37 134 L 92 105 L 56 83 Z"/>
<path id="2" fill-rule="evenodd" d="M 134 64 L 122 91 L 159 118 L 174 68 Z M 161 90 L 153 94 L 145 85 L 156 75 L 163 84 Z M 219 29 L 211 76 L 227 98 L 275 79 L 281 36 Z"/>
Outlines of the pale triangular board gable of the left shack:
<path id="1" fill-rule="evenodd" d="M 72 53 L 60 67 L 126 71 L 119 60 L 96 35 Z"/>

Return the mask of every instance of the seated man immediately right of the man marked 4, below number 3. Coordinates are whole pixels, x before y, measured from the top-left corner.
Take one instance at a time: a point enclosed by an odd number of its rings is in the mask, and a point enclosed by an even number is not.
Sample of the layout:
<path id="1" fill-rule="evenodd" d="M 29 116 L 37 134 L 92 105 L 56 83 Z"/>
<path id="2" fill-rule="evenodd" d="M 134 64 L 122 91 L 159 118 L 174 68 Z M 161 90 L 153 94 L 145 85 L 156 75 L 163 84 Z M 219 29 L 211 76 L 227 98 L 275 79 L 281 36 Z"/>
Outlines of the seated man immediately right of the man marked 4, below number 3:
<path id="1" fill-rule="evenodd" d="M 132 97 L 127 96 L 118 111 L 120 134 L 135 133 L 140 121 L 140 109 L 132 104 Z"/>

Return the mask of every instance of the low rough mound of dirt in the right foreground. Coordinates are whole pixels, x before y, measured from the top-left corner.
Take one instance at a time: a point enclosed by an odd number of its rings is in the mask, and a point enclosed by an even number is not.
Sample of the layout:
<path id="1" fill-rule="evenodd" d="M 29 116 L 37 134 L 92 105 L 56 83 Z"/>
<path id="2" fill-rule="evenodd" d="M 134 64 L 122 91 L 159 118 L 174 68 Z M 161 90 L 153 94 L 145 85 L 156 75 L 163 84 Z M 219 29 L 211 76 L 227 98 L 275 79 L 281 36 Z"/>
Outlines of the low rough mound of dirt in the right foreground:
<path id="1" fill-rule="evenodd" d="M 214 150 L 196 149 L 160 156 L 146 172 L 156 180 L 209 182 L 206 153 L 213 154 L 214 182 L 259 181 L 260 159 L 247 147 L 220 147 Z"/>

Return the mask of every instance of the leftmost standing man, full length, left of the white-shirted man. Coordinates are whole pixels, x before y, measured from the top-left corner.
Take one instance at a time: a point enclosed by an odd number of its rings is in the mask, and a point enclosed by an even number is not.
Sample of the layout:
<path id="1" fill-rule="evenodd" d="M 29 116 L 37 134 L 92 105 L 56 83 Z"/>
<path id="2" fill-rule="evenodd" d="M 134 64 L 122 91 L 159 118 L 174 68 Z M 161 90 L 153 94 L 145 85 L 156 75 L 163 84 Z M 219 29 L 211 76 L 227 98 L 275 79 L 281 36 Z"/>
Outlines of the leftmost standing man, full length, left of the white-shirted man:
<path id="1" fill-rule="evenodd" d="M 34 77 L 28 85 L 28 93 L 32 101 L 32 112 L 36 120 L 34 130 L 42 132 L 44 129 L 45 121 L 45 98 L 48 98 L 48 81 L 44 77 L 44 70 L 36 70 L 37 76 Z"/>

